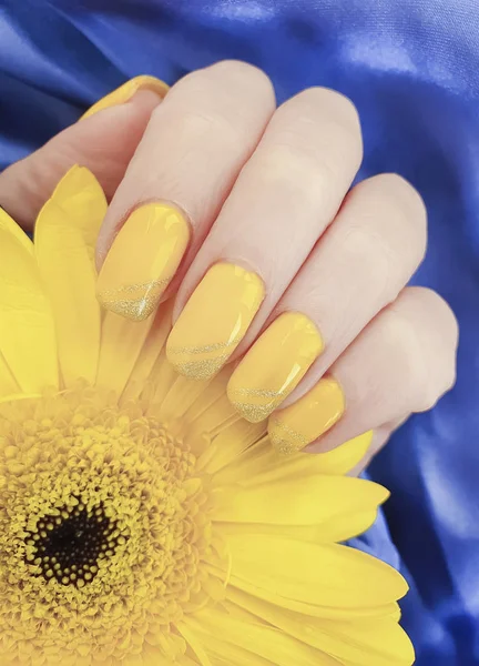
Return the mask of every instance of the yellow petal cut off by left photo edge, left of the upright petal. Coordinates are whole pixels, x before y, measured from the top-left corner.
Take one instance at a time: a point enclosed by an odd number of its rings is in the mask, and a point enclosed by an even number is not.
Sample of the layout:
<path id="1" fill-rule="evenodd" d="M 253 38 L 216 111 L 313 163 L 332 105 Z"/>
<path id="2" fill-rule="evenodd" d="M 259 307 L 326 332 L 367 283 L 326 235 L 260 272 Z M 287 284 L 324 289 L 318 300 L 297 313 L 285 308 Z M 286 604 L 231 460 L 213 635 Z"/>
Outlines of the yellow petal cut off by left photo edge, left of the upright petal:
<path id="1" fill-rule="evenodd" d="M 0 352 L 20 389 L 58 386 L 53 316 L 29 245 L 0 226 Z"/>

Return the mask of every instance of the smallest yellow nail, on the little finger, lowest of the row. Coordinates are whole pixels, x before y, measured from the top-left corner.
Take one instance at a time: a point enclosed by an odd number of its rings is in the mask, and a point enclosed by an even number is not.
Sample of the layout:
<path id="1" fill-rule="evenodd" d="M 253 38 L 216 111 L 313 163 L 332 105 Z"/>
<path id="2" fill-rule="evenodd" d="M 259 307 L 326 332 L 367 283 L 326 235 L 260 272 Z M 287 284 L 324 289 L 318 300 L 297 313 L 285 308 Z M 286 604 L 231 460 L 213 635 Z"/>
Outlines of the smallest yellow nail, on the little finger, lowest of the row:
<path id="1" fill-rule="evenodd" d="M 309 393 L 269 417 L 269 440 L 279 453 L 302 451 L 328 431 L 344 410 L 342 387 L 336 380 L 324 377 Z"/>

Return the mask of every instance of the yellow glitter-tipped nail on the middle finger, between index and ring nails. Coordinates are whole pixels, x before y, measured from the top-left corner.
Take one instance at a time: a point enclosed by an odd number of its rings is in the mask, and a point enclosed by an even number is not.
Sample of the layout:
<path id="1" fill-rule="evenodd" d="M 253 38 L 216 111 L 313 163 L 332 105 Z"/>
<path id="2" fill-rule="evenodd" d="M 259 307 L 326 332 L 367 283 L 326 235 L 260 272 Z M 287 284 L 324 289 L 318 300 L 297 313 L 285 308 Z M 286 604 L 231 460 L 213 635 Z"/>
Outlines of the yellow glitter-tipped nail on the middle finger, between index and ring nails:
<path id="1" fill-rule="evenodd" d="M 173 326 L 169 361 L 190 379 L 208 380 L 243 340 L 263 299 L 256 273 L 230 263 L 213 265 Z"/>

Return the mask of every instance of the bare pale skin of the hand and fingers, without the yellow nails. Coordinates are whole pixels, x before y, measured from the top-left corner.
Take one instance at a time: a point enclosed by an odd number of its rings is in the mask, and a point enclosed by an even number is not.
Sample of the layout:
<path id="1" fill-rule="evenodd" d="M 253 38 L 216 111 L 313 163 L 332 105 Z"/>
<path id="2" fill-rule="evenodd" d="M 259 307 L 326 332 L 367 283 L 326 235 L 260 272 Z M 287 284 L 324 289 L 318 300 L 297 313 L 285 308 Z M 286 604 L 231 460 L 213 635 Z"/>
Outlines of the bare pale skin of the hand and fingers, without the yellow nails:
<path id="1" fill-rule="evenodd" d="M 174 321 L 212 265 L 256 273 L 265 297 L 228 362 L 279 314 L 307 315 L 324 350 L 279 411 L 334 377 L 344 413 L 307 450 L 373 430 L 373 455 L 453 385 L 458 330 L 437 293 L 407 286 L 427 246 L 420 195 L 391 173 L 350 189 L 361 157 L 350 100 L 313 88 L 276 108 L 264 72 L 227 61 L 188 74 L 163 100 L 140 90 L 67 129 L 0 175 L 0 202 L 31 226 L 67 169 L 89 167 L 111 199 L 99 269 L 133 210 L 177 206 L 191 239 L 164 294 L 176 292 Z"/>

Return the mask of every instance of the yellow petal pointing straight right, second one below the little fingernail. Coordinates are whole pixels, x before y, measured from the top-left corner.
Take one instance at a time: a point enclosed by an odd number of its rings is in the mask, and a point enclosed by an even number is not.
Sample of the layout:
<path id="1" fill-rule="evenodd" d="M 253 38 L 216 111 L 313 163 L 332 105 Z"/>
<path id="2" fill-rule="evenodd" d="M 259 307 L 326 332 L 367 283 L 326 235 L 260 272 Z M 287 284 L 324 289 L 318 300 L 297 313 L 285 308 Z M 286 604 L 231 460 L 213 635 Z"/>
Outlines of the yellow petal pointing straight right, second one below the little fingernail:
<path id="1" fill-rule="evenodd" d="M 388 492 L 345 476 L 305 476 L 214 491 L 213 518 L 228 523 L 318 525 L 355 511 L 375 509 Z"/>

